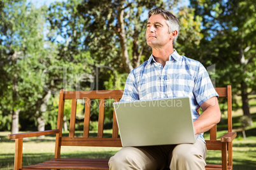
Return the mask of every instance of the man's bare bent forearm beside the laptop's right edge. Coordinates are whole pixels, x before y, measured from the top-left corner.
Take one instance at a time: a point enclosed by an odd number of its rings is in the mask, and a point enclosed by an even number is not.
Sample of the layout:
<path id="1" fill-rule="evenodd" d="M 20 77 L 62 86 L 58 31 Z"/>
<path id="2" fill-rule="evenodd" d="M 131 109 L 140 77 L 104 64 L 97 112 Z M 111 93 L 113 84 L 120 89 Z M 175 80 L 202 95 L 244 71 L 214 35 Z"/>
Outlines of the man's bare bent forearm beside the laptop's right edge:
<path id="1" fill-rule="evenodd" d="M 195 134 L 204 133 L 220 122 L 220 107 L 217 96 L 204 101 L 200 107 L 203 109 L 203 114 L 194 121 Z"/>

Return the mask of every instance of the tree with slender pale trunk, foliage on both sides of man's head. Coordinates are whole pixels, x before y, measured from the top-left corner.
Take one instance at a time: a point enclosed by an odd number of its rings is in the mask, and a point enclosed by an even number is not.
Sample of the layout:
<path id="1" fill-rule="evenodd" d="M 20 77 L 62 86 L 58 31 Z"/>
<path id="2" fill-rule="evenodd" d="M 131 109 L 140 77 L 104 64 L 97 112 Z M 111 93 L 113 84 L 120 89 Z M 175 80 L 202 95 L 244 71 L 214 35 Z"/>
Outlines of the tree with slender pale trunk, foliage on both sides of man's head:
<path id="1" fill-rule="evenodd" d="M 173 5 L 168 5 L 173 4 Z M 90 51 L 96 64 L 110 66 L 118 72 L 131 72 L 150 55 L 146 45 L 145 30 L 147 13 L 151 8 L 166 10 L 175 8 L 178 1 L 68 1 L 55 3 L 49 8 L 49 22 L 57 34 L 70 40 L 70 44 Z M 169 7 L 167 7 L 169 6 Z M 190 15 L 192 10 L 181 9 L 181 24 L 185 24 L 186 32 L 181 32 L 182 46 L 201 39 L 200 18 Z M 184 28 L 184 27 L 183 27 Z M 189 29 L 188 29 L 189 28 Z M 73 36 L 76 32 L 76 37 Z M 80 41 L 76 41 L 80 40 Z M 69 42 L 66 41 L 68 44 Z M 76 42 L 76 43 L 75 43 Z M 189 44 L 191 46 L 191 44 Z M 186 49 L 186 48 L 183 48 Z M 77 51 L 76 48 L 73 50 Z M 188 50 L 187 50 L 188 51 Z M 121 67 L 120 67 L 121 66 Z"/>

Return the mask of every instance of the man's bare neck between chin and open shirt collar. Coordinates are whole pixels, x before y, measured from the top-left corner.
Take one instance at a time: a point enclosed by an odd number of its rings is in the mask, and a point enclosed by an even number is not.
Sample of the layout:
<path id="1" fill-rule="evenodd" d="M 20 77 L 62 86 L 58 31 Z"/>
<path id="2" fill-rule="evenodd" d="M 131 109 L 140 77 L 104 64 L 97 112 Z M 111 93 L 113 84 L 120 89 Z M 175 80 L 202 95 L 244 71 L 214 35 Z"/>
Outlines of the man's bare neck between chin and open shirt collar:
<path id="1" fill-rule="evenodd" d="M 162 64 L 164 67 L 169 60 L 169 56 L 174 52 L 173 47 L 169 49 L 155 49 L 152 48 L 152 55 L 157 63 Z"/>

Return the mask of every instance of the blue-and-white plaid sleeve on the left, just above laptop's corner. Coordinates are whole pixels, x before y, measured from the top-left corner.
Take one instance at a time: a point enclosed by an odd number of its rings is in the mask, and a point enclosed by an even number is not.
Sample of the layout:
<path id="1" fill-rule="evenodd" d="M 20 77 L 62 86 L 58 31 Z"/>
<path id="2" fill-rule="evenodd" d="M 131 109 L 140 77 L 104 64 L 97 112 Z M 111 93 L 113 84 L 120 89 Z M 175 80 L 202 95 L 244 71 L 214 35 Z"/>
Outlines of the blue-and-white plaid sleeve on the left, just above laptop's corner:
<path id="1" fill-rule="evenodd" d="M 132 71 L 126 79 L 124 94 L 120 101 L 133 101 L 133 100 L 139 100 L 139 95 L 138 95 L 136 79 Z"/>

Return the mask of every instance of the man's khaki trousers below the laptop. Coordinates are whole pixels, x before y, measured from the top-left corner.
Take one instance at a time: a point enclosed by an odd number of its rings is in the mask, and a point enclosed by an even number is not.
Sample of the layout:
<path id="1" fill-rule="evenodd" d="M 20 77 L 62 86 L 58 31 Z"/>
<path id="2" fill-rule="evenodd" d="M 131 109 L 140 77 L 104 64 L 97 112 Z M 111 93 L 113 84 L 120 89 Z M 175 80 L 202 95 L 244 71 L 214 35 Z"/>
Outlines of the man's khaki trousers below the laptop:
<path id="1" fill-rule="evenodd" d="M 124 147 L 108 162 L 112 170 L 165 169 L 199 170 L 206 166 L 206 145 L 197 139 L 193 144 Z"/>

